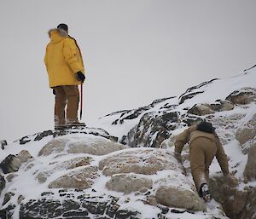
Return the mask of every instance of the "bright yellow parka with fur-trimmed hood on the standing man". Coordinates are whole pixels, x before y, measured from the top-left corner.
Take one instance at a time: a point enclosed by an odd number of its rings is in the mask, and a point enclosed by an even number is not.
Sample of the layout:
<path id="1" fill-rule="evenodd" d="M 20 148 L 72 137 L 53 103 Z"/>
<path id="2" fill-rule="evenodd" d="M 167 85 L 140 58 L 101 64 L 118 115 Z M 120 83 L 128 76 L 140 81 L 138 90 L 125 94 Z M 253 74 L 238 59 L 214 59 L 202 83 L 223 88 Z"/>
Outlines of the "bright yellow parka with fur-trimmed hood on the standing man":
<path id="1" fill-rule="evenodd" d="M 75 40 L 59 29 L 50 30 L 49 37 L 50 43 L 44 56 L 49 87 L 80 84 L 76 73 L 84 73 L 84 64 Z"/>

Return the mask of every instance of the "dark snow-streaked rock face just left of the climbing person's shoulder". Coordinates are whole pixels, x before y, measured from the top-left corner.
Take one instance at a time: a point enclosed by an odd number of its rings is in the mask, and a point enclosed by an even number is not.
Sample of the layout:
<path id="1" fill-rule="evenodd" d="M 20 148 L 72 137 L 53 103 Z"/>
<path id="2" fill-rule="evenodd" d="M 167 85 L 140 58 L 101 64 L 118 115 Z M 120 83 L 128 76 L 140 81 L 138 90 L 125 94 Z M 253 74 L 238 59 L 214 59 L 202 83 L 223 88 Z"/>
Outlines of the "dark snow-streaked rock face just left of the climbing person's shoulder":
<path id="1" fill-rule="evenodd" d="M 148 112 L 121 142 L 131 147 L 160 147 L 177 128 L 178 119 L 179 112 Z"/>

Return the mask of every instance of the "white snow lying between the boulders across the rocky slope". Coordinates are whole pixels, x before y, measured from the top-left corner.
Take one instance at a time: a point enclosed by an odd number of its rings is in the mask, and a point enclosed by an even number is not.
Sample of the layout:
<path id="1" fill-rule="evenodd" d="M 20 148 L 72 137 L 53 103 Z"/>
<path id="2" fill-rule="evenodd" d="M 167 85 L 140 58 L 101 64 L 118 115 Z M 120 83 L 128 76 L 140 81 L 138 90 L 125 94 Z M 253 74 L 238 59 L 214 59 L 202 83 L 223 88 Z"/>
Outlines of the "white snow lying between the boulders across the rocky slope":
<path id="1" fill-rule="evenodd" d="M 186 107 L 193 107 L 196 103 L 212 103 L 218 99 L 224 100 L 230 93 L 232 93 L 236 89 L 242 89 L 246 87 L 256 88 L 256 70 L 252 69 L 251 71 L 247 72 L 246 74 L 241 74 L 233 78 L 223 78 L 213 81 L 211 84 L 207 84 L 202 86 L 198 89 L 193 89 L 191 92 L 199 92 L 204 91 L 201 94 L 195 95 L 193 98 L 186 100 L 183 102 L 183 104 L 178 105 L 178 102 L 180 101 L 178 97 L 162 101 L 160 103 L 157 103 L 154 105 L 154 107 L 150 108 L 148 111 L 143 112 L 141 115 L 139 115 L 137 118 L 134 119 L 126 119 L 124 124 L 116 124 L 113 125 L 113 121 L 118 119 L 120 117 L 120 113 L 113 113 L 110 116 L 100 118 L 95 123 L 88 124 L 91 127 L 96 128 L 102 128 L 103 130 L 107 130 L 110 135 L 119 137 L 119 140 L 122 138 L 123 135 L 127 135 L 127 133 L 135 127 L 140 119 L 143 117 L 144 113 L 148 112 L 160 112 L 163 111 L 160 109 L 161 107 L 165 106 L 166 104 L 169 105 L 177 105 L 177 107 L 173 107 L 171 111 L 179 111 L 179 112 L 185 112 L 183 109 Z M 248 104 L 246 107 L 239 107 L 236 106 L 234 110 L 232 111 L 226 111 L 226 112 L 216 112 L 214 122 L 216 125 L 218 125 L 218 135 L 220 135 L 220 138 L 222 140 L 226 140 L 224 143 L 224 150 L 227 153 L 228 157 L 230 158 L 230 170 L 235 171 L 236 170 L 236 177 L 242 179 L 242 173 L 245 168 L 245 165 L 247 164 L 247 154 L 241 153 L 241 146 L 238 141 L 235 139 L 235 133 L 236 130 L 241 127 L 242 124 L 246 123 L 248 120 L 250 120 L 253 117 L 253 114 L 256 112 L 256 105 L 255 103 Z M 221 118 L 236 118 L 237 120 L 234 122 L 234 124 L 229 124 L 229 129 L 224 129 L 224 124 Z M 213 123 L 214 124 L 214 123 Z M 185 129 L 185 127 L 181 127 L 180 129 L 172 131 L 173 135 L 177 135 L 180 132 L 182 132 Z M 227 140 L 227 135 L 230 136 L 231 141 Z M 85 136 L 85 137 L 84 137 Z M 95 135 L 84 135 L 84 134 L 72 134 L 72 135 L 65 135 L 58 137 L 59 139 L 67 138 L 69 140 L 69 143 L 79 141 L 84 143 L 93 143 L 96 141 L 99 141 L 102 137 L 101 136 L 95 136 Z M 44 137 L 41 141 L 30 141 L 26 143 L 25 145 L 20 145 L 19 141 L 16 141 L 14 143 L 9 144 L 8 146 L 5 146 L 5 149 L 1 151 L 0 153 L 0 161 L 2 161 L 4 158 L 6 158 L 9 154 L 17 154 L 20 153 L 21 150 L 27 150 L 29 153 L 32 154 L 32 157 L 35 158 L 35 160 L 29 161 L 27 164 L 23 164 L 19 171 L 15 172 L 15 175 L 17 175 L 12 183 L 7 183 L 7 187 L 4 188 L 2 195 L 7 192 L 15 192 L 15 196 L 11 198 L 11 202 L 17 205 L 17 199 L 20 195 L 25 197 L 25 201 L 29 199 L 40 199 L 42 198 L 41 193 L 50 191 L 54 193 L 52 195 L 53 199 L 60 199 L 57 190 L 58 189 L 49 189 L 47 185 L 49 182 L 52 182 L 53 180 L 57 179 L 59 176 L 62 176 L 64 174 L 67 174 L 68 172 L 71 172 L 73 170 L 79 170 L 83 167 L 77 167 L 76 169 L 72 170 L 65 170 L 65 169 L 59 169 L 56 170 L 52 175 L 50 175 L 47 178 L 47 181 L 44 183 L 39 183 L 37 179 L 38 172 L 44 172 L 48 170 L 52 170 L 57 164 L 60 164 L 61 162 L 73 159 L 73 158 L 80 158 L 88 156 L 92 159 L 90 165 L 91 166 L 97 166 L 99 162 L 104 159 L 108 158 L 109 156 L 116 156 L 120 152 L 113 152 L 107 155 L 102 156 L 96 156 L 91 154 L 67 154 L 67 153 L 61 153 L 61 156 L 55 157 L 55 154 L 50 154 L 49 156 L 38 156 L 39 151 L 46 145 L 49 141 L 53 139 L 53 136 L 47 136 Z M 168 141 L 168 140 L 166 140 Z M 168 143 L 166 143 L 168 145 Z M 134 150 L 134 148 L 127 148 L 122 150 L 122 152 L 131 152 Z M 154 148 L 140 148 L 139 150 L 154 150 Z M 172 153 L 173 147 L 167 148 L 167 152 Z M 185 152 L 183 152 L 185 153 Z M 56 162 L 56 164 L 51 163 Z M 32 164 L 32 167 L 29 169 L 29 165 Z M 216 176 L 220 174 L 220 168 L 218 165 L 218 162 L 216 159 L 213 160 L 211 168 L 210 168 L 210 176 Z M 154 176 L 145 176 L 149 177 L 154 182 L 154 187 L 159 186 L 161 182 L 160 179 L 167 178 L 170 179 L 166 184 L 176 186 L 181 185 L 181 188 L 183 189 L 191 189 L 191 185 L 193 184 L 191 176 L 184 177 L 182 174 L 178 174 L 177 172 L 173 170 L 161 170 L 157 172 Z M 92 189 L 87 189 L 84 191 L 84 193 L 91 194 L 91 196 L 101 195 L 104 193 L 107 197 L 107 195 L 113 195 L 119 197 L 119 204 L 121 205 L 121 208 L 123 209 L 131 209 L 131 210 L 138 210 L 142 214 L 142 218 L 157 218 L 157 214 L 160 213 L 160 209 L 154 206 L 145 205 L 141 199 L 143 197 L 136 196 L 134 193 L 130 195 L 124 195 L 123 193 L 108 191 L 105 188 L 105 183 L 108 182 L 110 179 L 110 176 L 103 176 L 100 172 L 100 176 L 96 178 L 95 183 L 93 185 L 93 189 L 96 190 L 96 192 L 92 192 Z M 192 184 L 191 184 L 192 183 Z M 247 186 L 256 186 L 256 182 L 249 182 L 247 184 L 241 183 L 239 186 L 239 189 L 243 189 Z M 73 191 L 74 194 L 79 195 L 79 193 L 76 193 Z M 63 198 L 64 199 L 64 198 Z M 129 201 L 127 201 L 127 199 Z M 1 197 L 0 199 L 0 205 L 3 204 L 3 199 Z M 9 203 L 7 204 L 9 205 Z M 7 207 L 7 205 L 3 206 Z M 167 217 L 170 218 L 180 218 L 180 219 L 204 219 L 209 218 L 209 215 L 218 215 L 218 210 L 216 209 L 216 206 L 218 204 L 215 203 L 214 200 L 212 200 L 211 203 L 207 204 L 207 214 L 204 214 L 202 212 L 197 212 L 195 214 L 191 214 L 189 212 L 184 212 L 183 214 L 175 214 L 172 212 L 168 212 L 166 214 Z M 19 205 L 18 205 L 19 207 Z M 18 210 L 19 208 L 15 209 L 15 218 L 18 218 Z M 225 218 L 223 216 L 223 218 Z"/>

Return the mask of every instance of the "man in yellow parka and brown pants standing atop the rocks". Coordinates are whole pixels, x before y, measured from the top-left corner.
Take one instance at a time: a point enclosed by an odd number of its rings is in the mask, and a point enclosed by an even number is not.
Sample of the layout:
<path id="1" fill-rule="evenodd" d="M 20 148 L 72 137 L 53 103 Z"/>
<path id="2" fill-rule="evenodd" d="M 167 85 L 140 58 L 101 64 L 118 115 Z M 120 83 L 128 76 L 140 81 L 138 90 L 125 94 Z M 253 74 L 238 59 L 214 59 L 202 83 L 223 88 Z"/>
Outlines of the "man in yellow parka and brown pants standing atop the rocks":
<path id="1" fill-rule="evenodd" d="M 49 30 L 49 38 L 44 63 L 49 76 L 49 87 L 55 94 L 55 130 L 84 125 L 78 120 L 78 85 L 83 84 L 85 79 L 79 46 L 68 35 L 66 24 Z"/>

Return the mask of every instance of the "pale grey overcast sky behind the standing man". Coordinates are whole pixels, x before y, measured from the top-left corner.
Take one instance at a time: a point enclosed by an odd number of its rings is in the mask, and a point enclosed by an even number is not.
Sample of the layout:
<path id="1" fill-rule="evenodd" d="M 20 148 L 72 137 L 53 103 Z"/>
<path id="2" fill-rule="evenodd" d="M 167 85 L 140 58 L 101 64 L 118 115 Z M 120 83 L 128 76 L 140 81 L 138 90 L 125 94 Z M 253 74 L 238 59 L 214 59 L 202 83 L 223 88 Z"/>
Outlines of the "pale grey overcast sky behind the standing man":
<path id="1" fill-rule="evenodd" d="M 44 53 L 59 23 L 84 55 L 90 123 L 256 64 L 255 9 L 254 0 L 0 0 L 0 139 L 54 128 Z"/>

